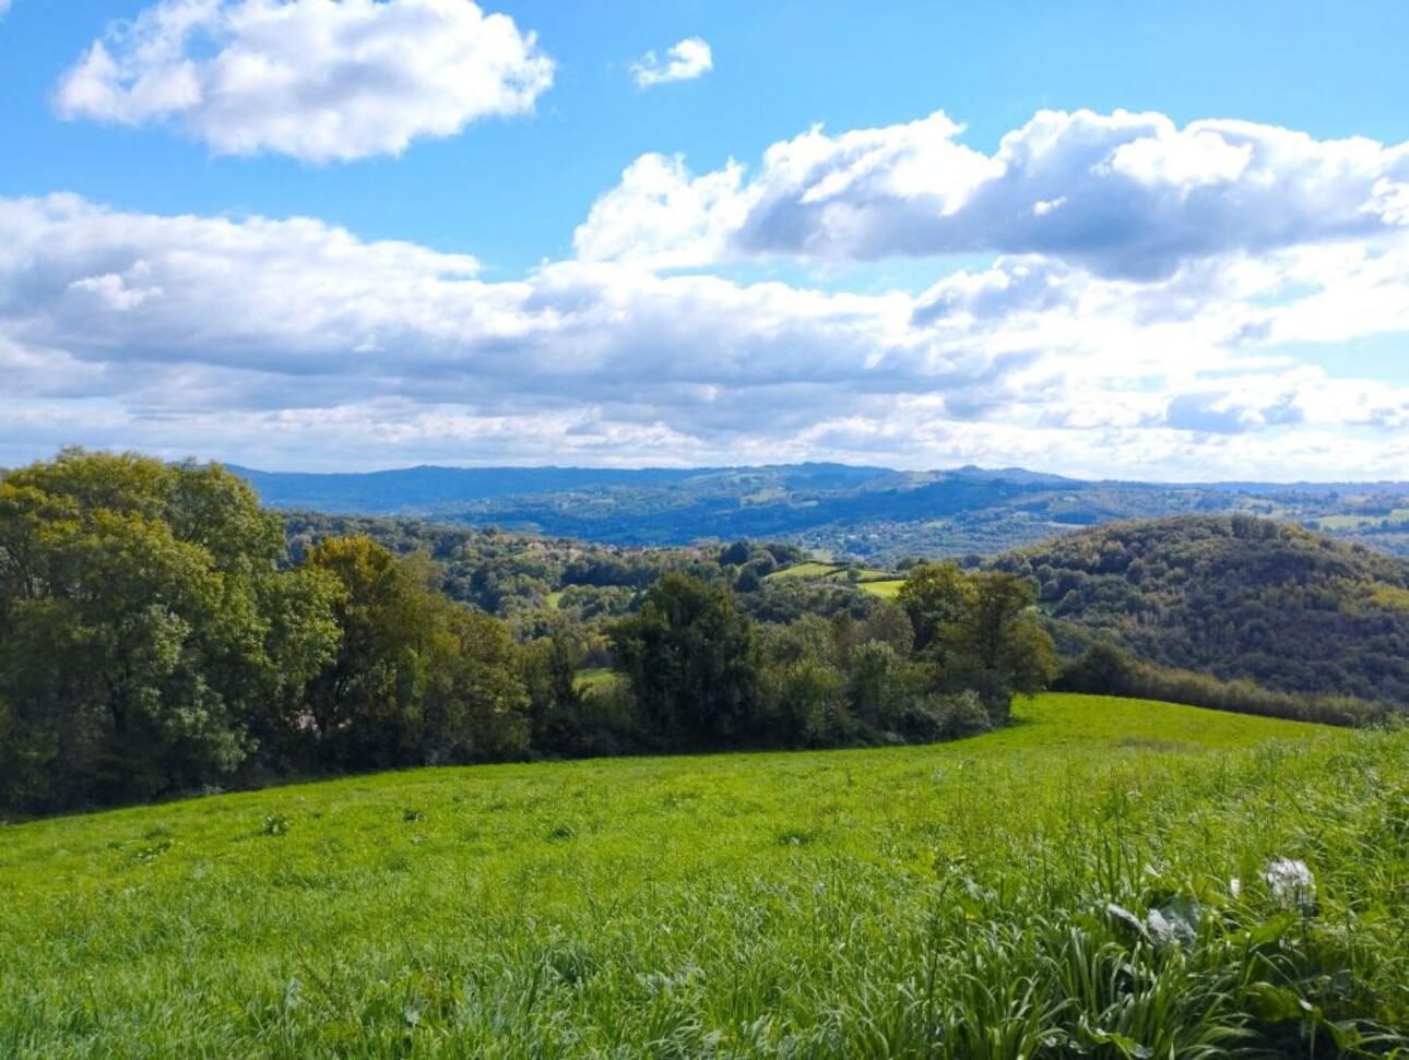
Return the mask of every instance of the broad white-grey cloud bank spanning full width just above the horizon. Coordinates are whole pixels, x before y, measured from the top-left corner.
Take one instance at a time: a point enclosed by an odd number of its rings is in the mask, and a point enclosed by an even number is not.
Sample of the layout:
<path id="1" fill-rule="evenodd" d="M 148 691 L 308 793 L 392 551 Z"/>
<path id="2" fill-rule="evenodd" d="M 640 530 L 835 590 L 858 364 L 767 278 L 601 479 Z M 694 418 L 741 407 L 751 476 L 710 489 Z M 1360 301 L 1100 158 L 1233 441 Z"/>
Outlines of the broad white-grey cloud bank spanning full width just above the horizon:
<path id="1" fill-rule="evenodd" d="M 1010 256 L 855 294 L 588 260 L 490 283 L 311 218 L 0 198 L 0 463 L 82 439 L 285 466 L 1402 476 L 1409 387 L 1288 351 L 1409 334 L 1406 307 L 1405 238 L 1165 280 Z"/>

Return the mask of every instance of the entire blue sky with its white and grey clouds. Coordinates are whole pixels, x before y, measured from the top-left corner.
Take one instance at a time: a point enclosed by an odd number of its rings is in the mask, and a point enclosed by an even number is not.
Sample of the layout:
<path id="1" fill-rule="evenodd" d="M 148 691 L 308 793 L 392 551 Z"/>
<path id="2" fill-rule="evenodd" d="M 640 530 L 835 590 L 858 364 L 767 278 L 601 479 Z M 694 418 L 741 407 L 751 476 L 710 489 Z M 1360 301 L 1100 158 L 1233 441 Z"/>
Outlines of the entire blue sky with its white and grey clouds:
<path id="1" fill-rule="evenodd" d="M 1409 479 L 1402 0 L 0 0 L 0 466 Z"/>

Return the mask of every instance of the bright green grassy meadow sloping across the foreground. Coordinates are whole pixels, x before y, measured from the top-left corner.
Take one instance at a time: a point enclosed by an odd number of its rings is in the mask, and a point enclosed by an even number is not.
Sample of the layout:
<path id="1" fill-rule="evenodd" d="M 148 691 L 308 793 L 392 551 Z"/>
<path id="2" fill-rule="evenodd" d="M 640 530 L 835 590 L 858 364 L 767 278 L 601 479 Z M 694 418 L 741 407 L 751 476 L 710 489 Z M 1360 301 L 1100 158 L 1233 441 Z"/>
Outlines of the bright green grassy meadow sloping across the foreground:
<path id="1" fill-rule="evenodd" d="M 0 828 L 0 1056 L 1402 1043 L 1409 733 L 1072 695 L 1017 717 Z M 1264 877 L 1278 859 L 1313 887 Z"/>

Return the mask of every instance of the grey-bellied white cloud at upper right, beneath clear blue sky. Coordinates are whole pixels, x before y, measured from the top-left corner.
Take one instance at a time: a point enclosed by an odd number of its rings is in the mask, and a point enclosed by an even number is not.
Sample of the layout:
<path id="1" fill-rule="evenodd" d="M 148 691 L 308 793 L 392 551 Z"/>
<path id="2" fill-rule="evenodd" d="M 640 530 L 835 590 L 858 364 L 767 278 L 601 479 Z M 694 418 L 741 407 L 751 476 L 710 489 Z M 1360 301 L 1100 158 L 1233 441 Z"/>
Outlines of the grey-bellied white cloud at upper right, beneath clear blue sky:
<path id="1" fill-rule="evenodd" d="M 730 163 L 695 176 L 681 159 L 645 156 L 599 198 L 576 246 L 657 266 L 1045 255 L 1157 280 L 1200 259 L 1409 225 L 1409 144 L 1230 120 L 1179 128 L 1126 111 L 1041 111 L 992 155 L 962 132 L 943 113 L 837 135 L 817 127 L 772 145 L 750 173 Z M 681 204 L 688 224 L 671 215 Z"/>

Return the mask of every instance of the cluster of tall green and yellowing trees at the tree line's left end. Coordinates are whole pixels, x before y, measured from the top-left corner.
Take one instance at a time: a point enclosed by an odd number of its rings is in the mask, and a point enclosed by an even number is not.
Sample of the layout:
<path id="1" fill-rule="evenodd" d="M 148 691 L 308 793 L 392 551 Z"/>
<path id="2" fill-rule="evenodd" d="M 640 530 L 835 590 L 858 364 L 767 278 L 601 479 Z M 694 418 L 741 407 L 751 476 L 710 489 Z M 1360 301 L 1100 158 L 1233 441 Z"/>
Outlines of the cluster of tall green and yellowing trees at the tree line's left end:
<path id="1" fill-rule="evenodd" d="M 218 466 L 65 450 L 0 479 L 0 807 L 521 753 L 506 626 L 365 538 L 287 562 Z"/>

